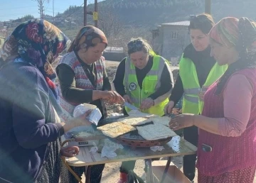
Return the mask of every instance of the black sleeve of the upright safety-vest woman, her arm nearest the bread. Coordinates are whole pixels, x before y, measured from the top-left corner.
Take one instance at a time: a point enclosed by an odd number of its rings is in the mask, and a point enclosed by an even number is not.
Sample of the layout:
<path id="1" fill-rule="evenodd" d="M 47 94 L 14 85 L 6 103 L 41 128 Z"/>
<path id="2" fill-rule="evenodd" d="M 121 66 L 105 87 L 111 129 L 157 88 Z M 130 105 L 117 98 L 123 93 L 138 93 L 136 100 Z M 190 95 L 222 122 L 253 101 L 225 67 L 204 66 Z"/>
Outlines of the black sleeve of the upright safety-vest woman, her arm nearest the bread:
<path id="1" fill-rule="evenodd" d="M 171 91 L 170 101 L 174 101 L 174 106 L 178 103 L 184 93 L 183 83 L 181 76 L 178 74 L 176 82 L 174 84 L 174 89 Z"/>

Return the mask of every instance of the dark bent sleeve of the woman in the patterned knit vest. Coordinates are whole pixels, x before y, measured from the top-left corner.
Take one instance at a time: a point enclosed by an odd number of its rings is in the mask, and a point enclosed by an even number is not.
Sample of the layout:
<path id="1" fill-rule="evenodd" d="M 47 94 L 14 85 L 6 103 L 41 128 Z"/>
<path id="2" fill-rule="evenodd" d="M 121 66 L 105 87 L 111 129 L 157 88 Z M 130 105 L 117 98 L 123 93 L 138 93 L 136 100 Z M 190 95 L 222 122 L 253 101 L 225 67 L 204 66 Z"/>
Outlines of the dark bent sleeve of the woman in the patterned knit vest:
<path id="1" fill-rule="evenodd" d="M 58 75 L 60 89 L 64 99 L 78 104 L 92 101 L 92 90 L 75 87 L 75 73 L 68 65 L 58 65 L 56 73 Z"/>

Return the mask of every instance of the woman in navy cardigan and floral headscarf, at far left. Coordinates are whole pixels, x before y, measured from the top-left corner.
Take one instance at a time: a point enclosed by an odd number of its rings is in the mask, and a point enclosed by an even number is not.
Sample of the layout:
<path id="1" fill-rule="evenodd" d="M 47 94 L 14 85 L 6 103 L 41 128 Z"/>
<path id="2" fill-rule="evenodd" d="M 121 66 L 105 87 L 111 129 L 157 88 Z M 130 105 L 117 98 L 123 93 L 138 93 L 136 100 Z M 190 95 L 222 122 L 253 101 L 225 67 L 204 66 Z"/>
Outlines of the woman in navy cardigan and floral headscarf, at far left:
<path id="1" fill-rule="evenodd" d="M 67 42 L 53 24 L 36 19 L 18 26 L 3 45 L 0 182 L 59 182 L 60 136 L 90 124 L 85 118 L 68 123 L 58 118 L 61 108 L 51 63 Z M 78 153 L 78 148 L 73 150 Z"/>

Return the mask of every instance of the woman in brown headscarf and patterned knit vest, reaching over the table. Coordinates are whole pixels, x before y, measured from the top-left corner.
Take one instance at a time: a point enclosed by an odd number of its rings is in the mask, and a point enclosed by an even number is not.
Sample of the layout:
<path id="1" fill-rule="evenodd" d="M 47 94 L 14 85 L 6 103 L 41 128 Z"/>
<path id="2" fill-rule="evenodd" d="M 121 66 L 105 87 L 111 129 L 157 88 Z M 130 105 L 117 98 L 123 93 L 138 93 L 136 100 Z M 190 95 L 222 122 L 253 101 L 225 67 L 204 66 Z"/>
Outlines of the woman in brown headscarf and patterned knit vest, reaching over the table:
<path id="1" fill-rule="evenodd" d="M 94 104 L 100 109 L 102 118 L 107 117 L 104 100 L 112 103 L 123 102 L 122 96 L 111 91 L 110 81 L 105 69 L 102 53 L 107 47 L 107 38 L 99 28 L 85 26 L 81 28 L 68 53 L 63 55 L 56 68 L 60 82 L 60 106 L 63 118 L 73 116 L 75 106 L 83 103 Z M 98 125 L 101 125 L 99 122 Z M 100 183 L 105 165 L 88 166 L 86 174 L 90 174 L 90 183 Z M 85 167 L 73 167 L 81 176 Z M 73 182 L 77 182 L 73 179 Z"/>

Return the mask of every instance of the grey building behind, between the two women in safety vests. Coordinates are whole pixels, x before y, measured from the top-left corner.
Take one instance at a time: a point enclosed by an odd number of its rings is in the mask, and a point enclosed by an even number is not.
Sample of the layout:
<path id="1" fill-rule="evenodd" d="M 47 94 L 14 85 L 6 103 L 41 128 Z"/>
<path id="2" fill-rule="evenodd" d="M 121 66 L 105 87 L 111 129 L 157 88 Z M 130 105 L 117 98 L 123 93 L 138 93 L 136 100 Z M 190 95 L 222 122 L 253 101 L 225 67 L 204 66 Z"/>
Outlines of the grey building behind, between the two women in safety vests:
<path id="1" fill-rule="evenodd" d="M 180 21 L 162 23 L 155 30 L 151 30 L 154 51 L 173 65 L 177 65 L 178 58 L 181 57 L 183 50 L 190 43 L 188 26 L 189 21 Z"/>

